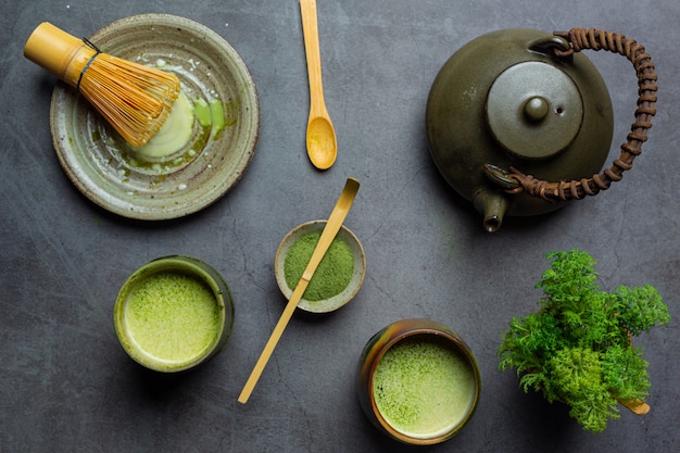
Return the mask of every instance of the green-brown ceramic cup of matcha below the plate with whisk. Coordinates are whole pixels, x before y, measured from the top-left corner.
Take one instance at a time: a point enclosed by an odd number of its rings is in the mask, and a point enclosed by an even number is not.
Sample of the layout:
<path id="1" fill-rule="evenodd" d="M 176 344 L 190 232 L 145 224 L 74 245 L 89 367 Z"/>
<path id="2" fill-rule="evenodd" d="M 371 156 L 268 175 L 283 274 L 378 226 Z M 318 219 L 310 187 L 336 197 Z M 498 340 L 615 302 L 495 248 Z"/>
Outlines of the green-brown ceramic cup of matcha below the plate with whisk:
<path id="1" fill-rule="evenodd" d="M 212 266 L 192 256 L 164 256 L 125 280 L 113 320 L 121 345 L 137 363 L 181 372 L 222 350 L 231 335 L 234 303 Z"/>

